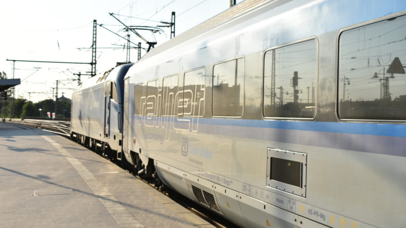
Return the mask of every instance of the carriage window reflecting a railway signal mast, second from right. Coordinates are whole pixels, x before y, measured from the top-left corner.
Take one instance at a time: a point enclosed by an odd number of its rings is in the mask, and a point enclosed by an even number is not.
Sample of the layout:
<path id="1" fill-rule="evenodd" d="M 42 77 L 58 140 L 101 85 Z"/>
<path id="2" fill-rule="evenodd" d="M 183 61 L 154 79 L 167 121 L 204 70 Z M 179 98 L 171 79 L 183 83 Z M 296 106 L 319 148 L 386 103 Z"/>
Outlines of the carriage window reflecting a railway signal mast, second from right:
<path id="1" fill-rule="evenodd" d="M 314 118 L 317 80 L 315 39 L 265 52 L 263 115 L 269 118 Z"/>

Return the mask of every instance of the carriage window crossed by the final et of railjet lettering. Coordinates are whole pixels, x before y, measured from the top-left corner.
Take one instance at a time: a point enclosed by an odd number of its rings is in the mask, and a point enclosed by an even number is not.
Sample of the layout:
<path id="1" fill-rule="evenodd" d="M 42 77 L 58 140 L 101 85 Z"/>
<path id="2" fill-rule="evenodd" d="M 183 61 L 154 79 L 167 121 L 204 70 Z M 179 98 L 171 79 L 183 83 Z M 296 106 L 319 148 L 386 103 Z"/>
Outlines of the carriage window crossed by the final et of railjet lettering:
<path id="1" fill-rule="evenodd" d="M 183 80 L 183 98 L 179 100 L 183 106 L 184 116 L 202 117 L 205 115 L 205 68 L 185 72 Z"/>

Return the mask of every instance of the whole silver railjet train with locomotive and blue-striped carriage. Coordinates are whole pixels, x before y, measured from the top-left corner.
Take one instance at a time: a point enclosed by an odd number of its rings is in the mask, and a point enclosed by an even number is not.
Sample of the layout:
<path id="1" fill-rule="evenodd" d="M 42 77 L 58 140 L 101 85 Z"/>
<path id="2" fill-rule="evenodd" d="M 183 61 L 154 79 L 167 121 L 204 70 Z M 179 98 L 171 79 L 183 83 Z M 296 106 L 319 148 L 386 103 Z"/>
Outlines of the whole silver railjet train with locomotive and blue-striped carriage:
<path id="1" fill-rule="evenodd" d="M 244 227 L 403 227 L 405 37 L 402 0 L 246 0 L 79 87 L 72 137 Z"/>

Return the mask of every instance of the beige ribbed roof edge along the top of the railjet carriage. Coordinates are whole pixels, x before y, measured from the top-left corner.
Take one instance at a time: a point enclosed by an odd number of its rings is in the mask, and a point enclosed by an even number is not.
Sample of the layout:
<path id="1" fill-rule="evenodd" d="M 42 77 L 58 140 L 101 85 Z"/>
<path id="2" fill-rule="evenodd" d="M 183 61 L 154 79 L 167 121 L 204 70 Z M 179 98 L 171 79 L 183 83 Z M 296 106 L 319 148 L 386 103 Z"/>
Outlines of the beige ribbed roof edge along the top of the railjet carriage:
<path id="1" fill-rule="evenodd" d="M 174 39 L 163 43 L 155 49 L 152 49 L 149 53 L 143 56 L 139 62 L 148 59 L 151 56 L 154 56 L 157 53 L 163 52 L 167 49 L 170 49 L 176 45 L 182 44 L 186 41 L 189 41 L 200 35 L 204 35 L 206 32 L 211 31 L 215 28 L 221 27 L 231 21 L 240 19 L 244 17 L 245 20 L 248 20 L 252 17 L 257 16 L 256 14 L 250 14 L 258 9 L 261 9 L 264 6 L 269 4 L 274 4 L 273 8 L 277 8 L 281 5 L 284 5 L 293 0 L 246 0 L 240 4 L 237 4 L 224 12 L 208 19 L 205 22 L 183 32 L 182 34 L 176 36 Z M 267 9 L 269 10 L 269 9 Z"/>

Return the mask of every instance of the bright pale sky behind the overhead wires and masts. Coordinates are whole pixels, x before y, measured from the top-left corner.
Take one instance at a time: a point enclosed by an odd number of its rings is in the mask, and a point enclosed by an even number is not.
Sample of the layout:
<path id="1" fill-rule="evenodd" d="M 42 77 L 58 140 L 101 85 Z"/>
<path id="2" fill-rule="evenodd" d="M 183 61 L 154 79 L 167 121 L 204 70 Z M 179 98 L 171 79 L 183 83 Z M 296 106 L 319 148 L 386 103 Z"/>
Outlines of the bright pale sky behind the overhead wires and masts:
<path id="1" fill-rule="evenodd" d="M 237 3 L 243 0 L 237 1 Z M 229 8 L 229 0 L 23 0 L 1 1 L 0 9 L 0 71 L 13 78 L 13 61 L 91 62 L 93 20 L 97 20 L 96 73 L 103 73 L 126 61 L 127 32 L 109 13 L 115 14 L 127 26 L 157 26 L 160 21 L 170 22 L 176 12 L 175 35 Z M 106 29 L 106 28 L 108 29 Z M 155 33 L 157 46 L 170 40 L 171 29 L 161 27 L 163 33 Z M 114 33 L 113 33 L 113 32 Z M 138 31 L 150 42 L 149 31 Z M 142 42 L 134 34 L 133 43 Z M 145 51 L 142 52 L 142 55 Z M 137 50 L 131 49 L 130 61 L 137 60 Z M 78 85 L 77 73 L 89 73 L 90 64 L 61 64 L 15 61 L 14 78 L 21 84 L 15 87 L 15 97 L 38 102 L 55 97 L 58 80 L 58 97 L 71 98 Z M 81 80 L 89 76 L 82 75 Z"/>

